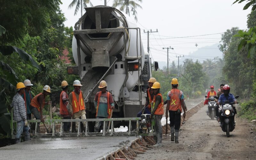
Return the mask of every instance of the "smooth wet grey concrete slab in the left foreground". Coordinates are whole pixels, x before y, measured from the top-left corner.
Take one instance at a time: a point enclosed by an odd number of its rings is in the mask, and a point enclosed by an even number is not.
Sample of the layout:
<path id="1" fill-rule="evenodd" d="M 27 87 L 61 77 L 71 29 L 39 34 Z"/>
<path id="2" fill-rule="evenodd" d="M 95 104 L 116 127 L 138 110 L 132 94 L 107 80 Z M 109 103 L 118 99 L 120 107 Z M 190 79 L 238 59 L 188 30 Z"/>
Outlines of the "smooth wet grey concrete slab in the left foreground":
<path id="1" fill-rule="evenodd" d="M 0 148 L 1 159 L 96 159 L 137 137 L 39 138 Z M 126 142 L 125 142 L 126 141 Z"/>

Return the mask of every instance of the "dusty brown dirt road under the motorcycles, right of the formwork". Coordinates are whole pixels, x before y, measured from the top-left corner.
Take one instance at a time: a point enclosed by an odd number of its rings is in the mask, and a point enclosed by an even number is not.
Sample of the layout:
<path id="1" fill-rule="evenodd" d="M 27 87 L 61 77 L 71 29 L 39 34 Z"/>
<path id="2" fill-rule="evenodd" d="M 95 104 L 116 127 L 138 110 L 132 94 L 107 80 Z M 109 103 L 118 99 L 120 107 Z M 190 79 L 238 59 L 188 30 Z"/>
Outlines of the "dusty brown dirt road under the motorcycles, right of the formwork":
<path id="1" fill-rule="evenodd" d="M 236 117 L 236 128 L 227 138 L 205 111 L 206 106 L 180 127 L 179 144 L 163 135 L 162 148 L 147 150 L 136 159 L 256 159 L 255 126 Z"/>

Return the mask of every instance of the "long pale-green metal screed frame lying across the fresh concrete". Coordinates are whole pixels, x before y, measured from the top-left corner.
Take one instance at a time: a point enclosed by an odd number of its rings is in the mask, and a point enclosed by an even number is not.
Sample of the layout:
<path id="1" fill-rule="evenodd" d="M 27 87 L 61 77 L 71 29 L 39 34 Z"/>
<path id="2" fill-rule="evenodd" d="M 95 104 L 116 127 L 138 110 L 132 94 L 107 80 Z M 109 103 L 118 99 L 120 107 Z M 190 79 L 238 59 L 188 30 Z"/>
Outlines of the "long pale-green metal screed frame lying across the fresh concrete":
<path id="1" fill-rule="evenodd" d="M 102 135 L 102 136 L 114 136 L 114 135 L 139 135 L 139 121 L 140 117 L 132 117 L 132 118 L 95 118 L 95 119 L 47 119 L 44 120 L 47 123 L 51 123 L 52 126 L 52 133 L 37 133 L 37 124 L 41 123 L 41 120 L 28 120 L 29 123 L 36 123 L 35 127 L 35 137 L 37 136 L 63 136 L 63 135 L 69 135 L 69 136 L 97 136 L 97 135 Z M 98 122 L 98 121 L 103 121 L 103 132 L 88 132 L 88 122 Z M 114 131 L 114 121 L 129 121 L 129 126 L 128 126 L 128 132 L 115 132 Z M 136 129 L 131 130 L 131 122 L 136 121 Z M 78 125 L 77 132 L 75 133 L 62 133 L 62 124 L 64 122 L 85 122 L 85 132 L 80 132 L 80 124 Z M 106 131 L 106 122 L 111 123 L 110 130 L 111 132 Z M 60 132 L 56 132 L 56 124 L 60 123 Z M 40 132 L 40 131 L 39 131 Z"/>

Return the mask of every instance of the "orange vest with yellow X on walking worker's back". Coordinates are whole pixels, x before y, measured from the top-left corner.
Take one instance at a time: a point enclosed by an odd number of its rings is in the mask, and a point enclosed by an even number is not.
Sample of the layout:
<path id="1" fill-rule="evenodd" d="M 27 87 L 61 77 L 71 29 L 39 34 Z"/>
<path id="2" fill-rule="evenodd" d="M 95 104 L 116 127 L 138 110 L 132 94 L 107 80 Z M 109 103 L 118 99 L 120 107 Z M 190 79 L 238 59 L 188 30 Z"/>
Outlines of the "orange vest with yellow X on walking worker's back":
<path id="1" fill-rule="evenodd" d="M 180 101 L 180 90 L 178 89 L 172 89 L 170 96 L 170 107 L 169 110 L 177 111 L 180 109 L 180 112 L 182 112 L 181 109 L 181 101 Z"/>

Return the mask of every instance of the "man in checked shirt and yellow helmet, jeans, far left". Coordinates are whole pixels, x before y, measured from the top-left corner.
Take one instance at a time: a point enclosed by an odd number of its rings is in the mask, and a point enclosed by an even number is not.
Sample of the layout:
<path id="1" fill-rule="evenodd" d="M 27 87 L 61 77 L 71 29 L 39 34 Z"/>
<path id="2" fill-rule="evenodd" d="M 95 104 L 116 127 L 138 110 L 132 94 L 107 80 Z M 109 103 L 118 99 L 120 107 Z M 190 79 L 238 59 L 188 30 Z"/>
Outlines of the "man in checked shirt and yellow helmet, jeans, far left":
<path id="1" fill-rule="evenodd" d="M 16 85 L 18 92 L 12 99 L 13 120 L 17 122 L 16 143 L 20 143 L 20 135 L 22 132 L 25 133 L 25 141 L 30 139 L 25 101 L 21 97 L 21 95 L 25 93 L 25 88 L 26 86 L 22 82 L 19 82 Z"/>

